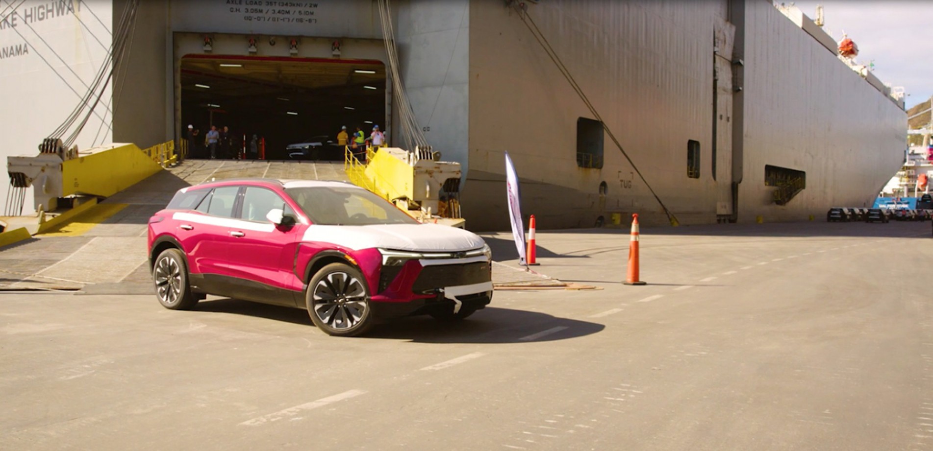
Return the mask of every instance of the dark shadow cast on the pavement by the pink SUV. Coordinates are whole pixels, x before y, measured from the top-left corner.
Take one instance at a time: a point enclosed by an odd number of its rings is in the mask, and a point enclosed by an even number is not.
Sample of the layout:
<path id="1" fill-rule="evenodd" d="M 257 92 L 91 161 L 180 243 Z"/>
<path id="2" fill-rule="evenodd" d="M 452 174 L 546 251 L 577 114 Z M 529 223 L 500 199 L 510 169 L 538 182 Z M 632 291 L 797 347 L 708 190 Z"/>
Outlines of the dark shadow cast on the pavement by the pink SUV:
<path id="1" fill-rule="evenodd" d="M 195 311 L 245 315 L 313 327 L 305 310 L 235 299 L 202 301 Z M 526 343 L 578 338 L 596 334 L 605 328 L 604 324 L 558 318 L 543 312 L 488 307 L 477 311 L 465 321 L 437 321 L 429 316 L 380 321 L 361 338 L 414 343 Z M 553 329 L 560 330 L 522 340 Z"/>

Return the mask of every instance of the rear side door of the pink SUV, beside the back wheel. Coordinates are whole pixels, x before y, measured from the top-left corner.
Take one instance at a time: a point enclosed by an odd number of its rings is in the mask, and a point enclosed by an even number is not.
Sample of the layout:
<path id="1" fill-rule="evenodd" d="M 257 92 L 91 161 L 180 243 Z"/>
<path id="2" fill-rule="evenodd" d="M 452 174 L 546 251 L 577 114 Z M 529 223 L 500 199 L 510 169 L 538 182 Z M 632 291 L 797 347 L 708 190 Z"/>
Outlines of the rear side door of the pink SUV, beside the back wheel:
<path id="1" fill-rule="evenodd" d="M 188 256 L 191 283 L 212 294 L 222 294 L 230 277 L 230 222 L 239 186 L 219 186 L 194 211 L 177 212 L 178 239 Z"/>

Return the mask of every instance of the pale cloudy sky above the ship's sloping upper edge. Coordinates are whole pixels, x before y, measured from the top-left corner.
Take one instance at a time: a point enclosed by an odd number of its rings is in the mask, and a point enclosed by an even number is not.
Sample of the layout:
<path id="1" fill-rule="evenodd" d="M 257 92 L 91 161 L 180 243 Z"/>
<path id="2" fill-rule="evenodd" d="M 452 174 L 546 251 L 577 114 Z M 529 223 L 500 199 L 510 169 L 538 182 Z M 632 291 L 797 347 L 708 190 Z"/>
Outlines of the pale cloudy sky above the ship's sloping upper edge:
<path id="1" fill-rule="evenodd" d="M 785 2 L 787 4 L 791 2 Z M 823 5 L 824 29 L 839 41 L 842 32 L 858 46 L 856 60 L 874 61 L 874 74 L 910 94 L 907 108 L 933 95 L 933 2 L 929 1 L 799 1 L 815 18 Z"/>

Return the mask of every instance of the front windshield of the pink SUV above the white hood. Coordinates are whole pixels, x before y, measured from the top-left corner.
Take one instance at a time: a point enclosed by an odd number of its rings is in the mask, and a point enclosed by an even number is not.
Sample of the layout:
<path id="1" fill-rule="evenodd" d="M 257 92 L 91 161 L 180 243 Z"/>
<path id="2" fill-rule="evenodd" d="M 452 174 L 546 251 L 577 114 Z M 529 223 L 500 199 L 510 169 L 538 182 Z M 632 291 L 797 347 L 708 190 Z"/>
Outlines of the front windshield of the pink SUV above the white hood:
<path id="1" fill-rule="evenodd" d="M 286 188 L 285 192 L 318 225 L 418 224 L 385 199 L 361 188 L 305 186 Z"/>

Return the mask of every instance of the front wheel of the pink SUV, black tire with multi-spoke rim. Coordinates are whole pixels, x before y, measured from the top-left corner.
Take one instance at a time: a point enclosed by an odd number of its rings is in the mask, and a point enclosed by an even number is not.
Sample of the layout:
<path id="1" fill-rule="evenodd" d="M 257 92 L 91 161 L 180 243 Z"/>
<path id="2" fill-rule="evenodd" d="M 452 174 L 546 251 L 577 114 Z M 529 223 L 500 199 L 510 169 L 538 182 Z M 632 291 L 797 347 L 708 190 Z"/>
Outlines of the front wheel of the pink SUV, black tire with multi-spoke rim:
<path id="1" fill-rule="evenodd" d="M 373 322 L 366 279 L 358 269 L 342 263 L 331 263 L 314 274 L 305 304 L 311 321 L 327 335 L 361 335 Z"/>

